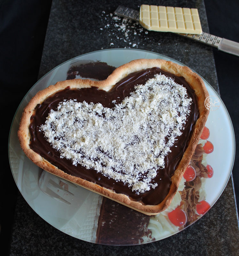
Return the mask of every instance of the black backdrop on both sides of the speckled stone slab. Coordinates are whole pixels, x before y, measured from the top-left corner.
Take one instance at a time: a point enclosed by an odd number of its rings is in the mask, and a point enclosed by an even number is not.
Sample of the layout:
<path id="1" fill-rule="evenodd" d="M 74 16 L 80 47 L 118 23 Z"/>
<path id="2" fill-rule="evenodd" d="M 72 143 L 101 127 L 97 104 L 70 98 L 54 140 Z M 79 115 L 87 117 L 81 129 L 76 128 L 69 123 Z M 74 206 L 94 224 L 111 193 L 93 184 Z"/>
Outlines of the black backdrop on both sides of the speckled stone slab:
<path id="1" fill-rule="evenodd" d="M 238 1 L 205 0 L 210 33 L 239 42 Z M 8 134 L 15 111 L 28 90 L 37 81 L 51 8 L 49 0 L 0 0 L 0 85 L 1 134 L 3 138 L 1 170 L 0 241 L 8 248 L 11 239 L 17 186 L 8 162 Z M 213 48 L 220 95 L 239 137 L 239 57 Z M 220 138 L 219 138 L 220 139 Z M 239 202 L 239 159 L 235 156 L 233 179 Z M 3 248 L 3 247 L 2 247 Z M 4 254 L 4 255 L 8 255 Z"/>

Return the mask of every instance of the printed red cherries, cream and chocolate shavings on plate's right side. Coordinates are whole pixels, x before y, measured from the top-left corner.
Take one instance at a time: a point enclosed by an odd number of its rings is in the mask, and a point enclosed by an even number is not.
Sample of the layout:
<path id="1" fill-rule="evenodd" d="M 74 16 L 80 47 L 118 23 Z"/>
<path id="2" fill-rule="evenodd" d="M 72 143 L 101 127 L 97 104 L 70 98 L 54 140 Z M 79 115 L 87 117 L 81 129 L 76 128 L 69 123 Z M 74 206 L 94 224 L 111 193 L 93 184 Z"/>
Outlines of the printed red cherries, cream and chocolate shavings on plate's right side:
<path id="1" fill-rule="evenodd" d="M 211 207 L 206 201 L 205 192 L 206 179 L 213 176 L 213 169 L 206 161 L 207 155 L 213 152 L 213 145 L 207 140 L 209 135 L 209 129 L 204 127 L 171 205 L 149 220 L 148 229 L 153 238 L 159 239 L 178 232 L 195 222 Z M 204 147 L 207 142 L 210 142 L 210 150 Z"/>

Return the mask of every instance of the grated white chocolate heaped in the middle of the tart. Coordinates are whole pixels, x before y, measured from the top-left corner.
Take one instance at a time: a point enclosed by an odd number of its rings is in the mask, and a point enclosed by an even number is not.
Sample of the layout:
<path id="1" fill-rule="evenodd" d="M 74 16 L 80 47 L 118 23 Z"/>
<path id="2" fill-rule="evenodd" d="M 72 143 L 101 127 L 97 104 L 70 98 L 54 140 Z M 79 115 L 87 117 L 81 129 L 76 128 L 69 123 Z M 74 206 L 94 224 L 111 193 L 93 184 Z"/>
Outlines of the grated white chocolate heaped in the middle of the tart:
<path id="1" fill-rule="evenodd" d="M 40 131 L 61 158 L 143 193 L 157 186 L 157 169 L 164 168 L 164 156 L 181 135 L 190 104 L 186 88 L 160 74 L 136 85 L 113 109 L 85 101 L 60 102 Z"/>

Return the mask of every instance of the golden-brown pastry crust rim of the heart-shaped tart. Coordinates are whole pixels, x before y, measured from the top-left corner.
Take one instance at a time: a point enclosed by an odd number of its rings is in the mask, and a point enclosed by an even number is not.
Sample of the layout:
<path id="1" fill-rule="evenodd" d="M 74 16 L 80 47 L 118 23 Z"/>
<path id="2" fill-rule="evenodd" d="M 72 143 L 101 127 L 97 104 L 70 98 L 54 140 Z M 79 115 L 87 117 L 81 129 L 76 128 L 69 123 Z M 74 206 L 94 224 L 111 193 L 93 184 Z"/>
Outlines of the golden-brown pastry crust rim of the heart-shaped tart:
<path id="1" fill-rule="evenodd" d="M 47 97 L 51 94 L 63 90 L 66 87 L 73 88 L 84 88 L 84 87 L 91 87 L 97 86 L 100 89 L 104 89 L 106 91 L 110 90 L 114 84 L 120 81 L 122 78 L 127 76 L 128 74 L 139 71 L 146 68 L 154 68 L 158 67 L 165 71 L 168 71 L 176 76 L 183 76 L 185 80 L 191 85 L 194 89 L 195 94 L 198 98 L 198 109 L 199 109 L 199 118 L 196 121 L 194 131 L 189 142 L 189 145 L 176 169 L 174 175 L 171 177 L 171 187 L 168 195 L 164 198 L 163 202 L 158 205 L 145 205 L 141 202 L 132 201 L 128 196 L 124 194 L 117 194 L 113 190 L 101 187 L 95 183 L 92 183 L 87 180 L 83 180 L 81 178 L 77 178 L 75 176 L 69 175 L 56 166 L 50 164 L 47 160 L 43 157 L 38 155 L 34 152 L 30 146 L 30 133 L 29 133 L 29 124 L 30 124 L 30 117 L 32 116 L 34 109 L 37 104 L 42 103 Z M 187 168 L 187 165 L 190 162 L 190 159 L 194 153 L 198 140 L 201 136 L 203 128 L 205 126 L 207 116 L 209 114 L 209 110 L 205 108 L 204 101 L 208 97 L 208 92 L 205 88 L 203 80 L 200 76 L 194 73 L 191 69 L 180 66 L 175 64 L 171 61 L 161 60 L 161 59 L 139 59 L 133 60 L 127 64 L 116 68 L 113 73 L 108 76 L 108 78 L 104 81 L 92 81 L 88 79 L 73 79 L 73 80 L 66 80 L 56 83 L 55 85 L 50 85 L 46 89 L 38 92 L 28 103 L 24 112 L 22 114 L 22 118 L 20 121 L 20 127 L 18 131 L 18 137 L 20 140 L 21 148 L 23 149 L 24 153 L 28 156 L 30 160 L 32 160 L 36 165 L 40 168 L 51 172 L 57 176 L 60 176 L 66 180 L 70 180 L 84 188 L 87 188 L 91 191 L 94 191 L 102 196 L 106 196 L 112 200 L 115 200 L 121 204 L 124 204 L 128 207 L 131 207 L 139 212 L 143 212 L 148 215 L 157 214 L 159 212 L 164 211 L 171 203 L 173 196 L 176 194 L 179 182 L 183 176 L 184 171 Z"/>

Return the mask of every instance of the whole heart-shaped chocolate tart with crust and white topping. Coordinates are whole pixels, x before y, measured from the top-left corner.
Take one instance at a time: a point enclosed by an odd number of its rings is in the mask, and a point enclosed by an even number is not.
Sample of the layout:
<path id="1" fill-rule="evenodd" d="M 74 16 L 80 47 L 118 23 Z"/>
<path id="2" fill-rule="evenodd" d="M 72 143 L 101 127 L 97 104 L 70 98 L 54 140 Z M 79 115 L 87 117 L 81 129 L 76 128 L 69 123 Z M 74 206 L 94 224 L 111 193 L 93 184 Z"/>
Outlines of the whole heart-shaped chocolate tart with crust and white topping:
<path id="1" fill-rule="evenodd" d="M 145 214 L 165 210 L 209 110 L 202 79 L 165 60 L 133 60 L 104 81 L 66 80 L 38 92 L 18 136 L 44 170 Z"/>

